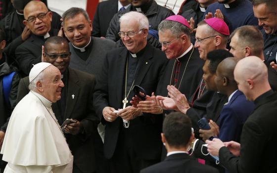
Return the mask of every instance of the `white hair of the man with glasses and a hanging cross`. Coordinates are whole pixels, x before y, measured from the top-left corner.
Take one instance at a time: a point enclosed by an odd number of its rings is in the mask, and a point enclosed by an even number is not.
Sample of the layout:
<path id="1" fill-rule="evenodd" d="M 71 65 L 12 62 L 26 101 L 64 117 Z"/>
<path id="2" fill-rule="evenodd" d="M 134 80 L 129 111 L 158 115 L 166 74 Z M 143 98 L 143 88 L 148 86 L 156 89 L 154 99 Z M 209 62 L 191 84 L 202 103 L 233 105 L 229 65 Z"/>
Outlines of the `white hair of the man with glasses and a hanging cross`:
<path id="1" fill-rule="evenodd" d="M 130 11 L 128 13 L 125 13 L 123 16 L 120 17 L 119 23 L 121 23 L 122 21 L 131 21 L 131 20 L 139 23 L 139 30 L 149 29 L 148 18 L 144 14 L 136 11 Z"/>

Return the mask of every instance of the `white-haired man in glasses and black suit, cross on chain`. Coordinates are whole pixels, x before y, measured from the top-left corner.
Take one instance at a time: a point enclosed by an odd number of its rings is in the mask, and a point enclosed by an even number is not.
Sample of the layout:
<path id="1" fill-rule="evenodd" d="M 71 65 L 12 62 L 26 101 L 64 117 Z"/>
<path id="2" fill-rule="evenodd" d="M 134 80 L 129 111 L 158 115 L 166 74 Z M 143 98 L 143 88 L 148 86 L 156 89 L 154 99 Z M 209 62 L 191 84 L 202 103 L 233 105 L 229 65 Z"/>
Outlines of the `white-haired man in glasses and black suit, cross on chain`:
<path id="1" fill-rule="evenodd" d="M 156 91 L 167 64 L 166 55 L 147 43 L 148 28 L 139 12 L 120 18 L 118 34 L 125 47 L 106 54 L 93 94 L 96 114 L 106 125 L 104 155 L 116 173 L 139 173 L 160 162 L 162 116 L 130 104 L 132 87 L 143 87 L 147 95 Z"/>

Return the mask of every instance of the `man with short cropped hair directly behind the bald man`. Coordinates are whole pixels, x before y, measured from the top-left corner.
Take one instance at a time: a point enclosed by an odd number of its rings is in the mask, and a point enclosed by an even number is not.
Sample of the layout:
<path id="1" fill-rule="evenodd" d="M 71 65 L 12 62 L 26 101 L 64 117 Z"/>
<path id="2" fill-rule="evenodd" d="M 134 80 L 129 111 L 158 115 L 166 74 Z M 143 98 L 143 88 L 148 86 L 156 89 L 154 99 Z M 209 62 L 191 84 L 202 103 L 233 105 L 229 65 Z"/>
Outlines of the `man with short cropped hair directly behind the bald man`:
<path id="1" fill-rule="evenodd" d="M 235 29 L 230 36 L 230 52 L 236 58 L 257 56 L 265 61 L 264 42 L 261 31 L 255 26 L 242 26 Z M 274 64 L 274 62 L 272 62 Z M 269 83 L 273 90 L 277 90 L 277 72 L 266 63 L 268 68 Z"/>

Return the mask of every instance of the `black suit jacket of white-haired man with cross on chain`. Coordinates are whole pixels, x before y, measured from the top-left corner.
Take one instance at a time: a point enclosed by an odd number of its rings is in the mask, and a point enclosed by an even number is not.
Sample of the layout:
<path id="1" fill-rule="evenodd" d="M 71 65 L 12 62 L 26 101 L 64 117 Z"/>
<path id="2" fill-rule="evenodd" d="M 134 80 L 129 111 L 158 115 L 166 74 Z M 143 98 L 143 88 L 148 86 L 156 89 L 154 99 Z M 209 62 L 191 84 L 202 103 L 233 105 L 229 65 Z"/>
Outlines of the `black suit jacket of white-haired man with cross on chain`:
<path id="1" fill-rule="evenodd" d="M 126 47 L 109 51 L 105 57 L 102 73 L 97 78 L 93 105 L 99 118 L 106 106 L 116 110 L 123 107 L 122 100 L 125 88 L 125 66 L 129 56 Z M 134 85 L 143 87 L 147 95 L 155 92 L 158 81 L 162 76 L 167 58 L 165 54 L 147 43 L 143 56 L 139 57 L 138 70 Z M 134 95 L 133 91 L 130 96 Z M 130 99 L 129 99 L 130 102 Z M 104 119 L 103 119 L 104 121 Z M 119 117 L 114 122 L 106 122 L 104 155 L 112 158 L 119 136 L 119 129 L 123 126 Z M 159 159 L 161 154 L 162 116 L 143 114 L 130 121 L 133 147 L 142 159 Z"/>

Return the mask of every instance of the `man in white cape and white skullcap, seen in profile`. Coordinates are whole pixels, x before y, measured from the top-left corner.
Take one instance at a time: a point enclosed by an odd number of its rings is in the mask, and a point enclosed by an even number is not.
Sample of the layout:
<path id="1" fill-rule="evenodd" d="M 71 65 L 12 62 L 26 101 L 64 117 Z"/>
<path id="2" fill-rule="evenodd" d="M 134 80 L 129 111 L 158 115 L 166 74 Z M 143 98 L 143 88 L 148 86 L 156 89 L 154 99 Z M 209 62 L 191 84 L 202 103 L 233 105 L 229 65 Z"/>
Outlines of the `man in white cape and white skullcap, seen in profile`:
<path id="1" fill-rule="evenodd" d="M 61 73 L 42 62 L 29 82 L 31 91 L 14 108 L 4 137 L 4 172 L 72 173 L 73 156 L 51 108 L 61 98 Z"/>

